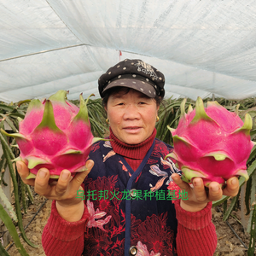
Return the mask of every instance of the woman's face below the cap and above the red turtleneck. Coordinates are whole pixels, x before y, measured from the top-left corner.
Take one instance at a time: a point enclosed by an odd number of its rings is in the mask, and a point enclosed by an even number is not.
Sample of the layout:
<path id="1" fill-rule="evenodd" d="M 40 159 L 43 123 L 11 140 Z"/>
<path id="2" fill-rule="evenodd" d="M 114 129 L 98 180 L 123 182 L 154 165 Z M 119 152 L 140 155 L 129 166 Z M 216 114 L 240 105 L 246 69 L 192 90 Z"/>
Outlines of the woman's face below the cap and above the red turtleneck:
<path id="1" fill-rule="evenodd" d="M 111 94 L 106 111 L 113 134 L 123 143 L 138 144 L 152 135 L 158 109 L 154 99 L 131 89 Z"/>

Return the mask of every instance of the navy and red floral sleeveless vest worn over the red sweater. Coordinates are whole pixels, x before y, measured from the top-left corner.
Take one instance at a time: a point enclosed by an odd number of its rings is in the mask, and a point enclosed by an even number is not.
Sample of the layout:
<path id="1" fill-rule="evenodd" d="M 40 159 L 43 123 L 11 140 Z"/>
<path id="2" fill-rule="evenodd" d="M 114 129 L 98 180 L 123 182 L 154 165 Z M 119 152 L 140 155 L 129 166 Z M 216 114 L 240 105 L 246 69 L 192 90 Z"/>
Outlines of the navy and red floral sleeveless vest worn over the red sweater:
<path id="1" fill-rule="evenodd" d="M 164 160 L 171 150 L 155 139 L 134 172 L 109 142 L 93 145 L 95 166 L 84 180 L 90 213 L 84 255 L 175 255 L 177 218 L 167 186 L 179 171 Z"/>

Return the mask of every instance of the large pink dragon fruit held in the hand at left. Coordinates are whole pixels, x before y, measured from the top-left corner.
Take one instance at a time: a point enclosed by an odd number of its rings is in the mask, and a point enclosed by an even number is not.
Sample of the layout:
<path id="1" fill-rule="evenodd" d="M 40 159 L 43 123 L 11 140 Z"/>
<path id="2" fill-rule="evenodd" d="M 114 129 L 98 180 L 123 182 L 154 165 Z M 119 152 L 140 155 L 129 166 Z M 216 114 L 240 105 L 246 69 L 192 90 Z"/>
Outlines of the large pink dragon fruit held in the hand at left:
<path id="1" fill-rule="evenodd" d="M 88 101 L 88 100 L 87 100 Z M 5 135 L 15 137 L 20 148 L 16 160 L 26 162 L 30 175 L 36 177 L 42 167 L 49 169 L 51 178 L 58 178 L 63 169 L 83 172 L 94 138 L 83 96 L 80 108 L 67 101 L 67 91 L 59 90 L 49 100 L 30 102 L 20 131 Z"/>

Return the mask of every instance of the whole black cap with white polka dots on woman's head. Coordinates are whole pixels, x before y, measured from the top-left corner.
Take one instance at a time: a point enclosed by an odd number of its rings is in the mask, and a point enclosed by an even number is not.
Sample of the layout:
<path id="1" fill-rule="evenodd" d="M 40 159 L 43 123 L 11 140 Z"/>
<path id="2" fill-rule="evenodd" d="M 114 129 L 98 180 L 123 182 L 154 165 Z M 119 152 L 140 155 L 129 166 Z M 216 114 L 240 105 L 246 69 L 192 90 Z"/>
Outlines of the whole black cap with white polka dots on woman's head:
<path id="1" fill-rule="evenodd" d="M 99 92 L 103 97 L 106 90 L 124 86 L 138 90 L 150 98 L 165 96 L 165 76 L 142 60 L 120 61 L 103 73 L 98 80 Z"/>

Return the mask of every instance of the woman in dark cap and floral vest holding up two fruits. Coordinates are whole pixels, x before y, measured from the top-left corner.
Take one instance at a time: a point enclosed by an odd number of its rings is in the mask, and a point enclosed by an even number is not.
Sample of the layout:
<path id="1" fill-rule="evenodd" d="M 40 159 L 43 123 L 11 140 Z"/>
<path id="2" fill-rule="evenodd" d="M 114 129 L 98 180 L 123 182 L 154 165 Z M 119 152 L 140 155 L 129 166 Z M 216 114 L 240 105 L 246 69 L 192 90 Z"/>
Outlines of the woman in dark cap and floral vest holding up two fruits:
<path id="1" fill-rule="evenodd" d="M 236 195 L 238 180 L 230 178 L 224 190 L 212 182 L 206 192 L 201 178 L 190 187 L 172 160 L 164 160 L 172 147 L 154 138 L 164 84 L 164 75 L 140 60 L 121 61 L 101 76 L 110 140 L 93 144 L 88 171 L 72 180 L 64 170 L 58 183 L 49 185 L 49 171 L 41 169 L 34 181 L 26 181 L 29 170 L 17 163 L 24 182 L 54 200 L 42 237 L 46 255 L 214 253 L 210 201 Z M 188 193 L 187 200 L 168 195 L 172 180 Z"/>

